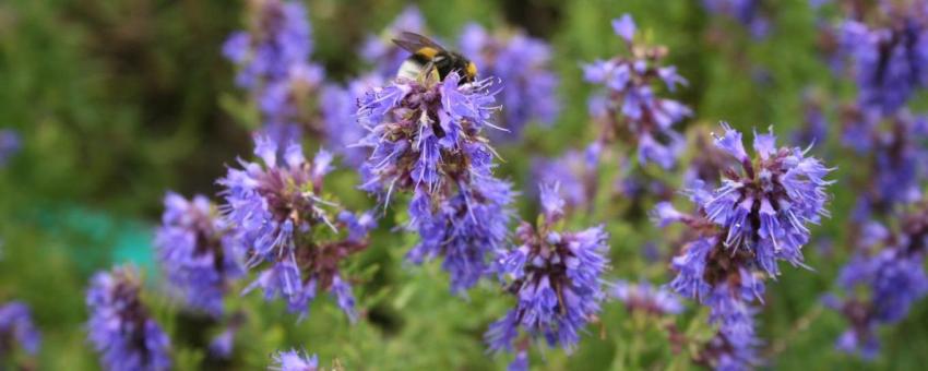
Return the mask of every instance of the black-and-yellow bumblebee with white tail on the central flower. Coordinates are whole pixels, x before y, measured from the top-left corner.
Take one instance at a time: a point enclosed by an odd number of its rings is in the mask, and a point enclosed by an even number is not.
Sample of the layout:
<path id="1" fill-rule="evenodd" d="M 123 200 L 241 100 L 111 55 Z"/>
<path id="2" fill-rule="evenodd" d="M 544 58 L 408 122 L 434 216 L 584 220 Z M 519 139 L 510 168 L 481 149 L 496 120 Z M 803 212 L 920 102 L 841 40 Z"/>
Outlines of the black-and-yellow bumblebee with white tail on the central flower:
<path id="1" fill-rule="evenodd" d="M 416 80 L 432 71 L 438 72 L 442 81 L 449 73 L 457 72 L 461 74 L 461 84 L 474 82 L 477 77 L 477 65 L 474 62 L 459 52 L 448 51 L 428 37 L 404 32 L 398 38 L 394 38 L 393 43 L 413 53 L 400 65 L 397 79 Z"/>

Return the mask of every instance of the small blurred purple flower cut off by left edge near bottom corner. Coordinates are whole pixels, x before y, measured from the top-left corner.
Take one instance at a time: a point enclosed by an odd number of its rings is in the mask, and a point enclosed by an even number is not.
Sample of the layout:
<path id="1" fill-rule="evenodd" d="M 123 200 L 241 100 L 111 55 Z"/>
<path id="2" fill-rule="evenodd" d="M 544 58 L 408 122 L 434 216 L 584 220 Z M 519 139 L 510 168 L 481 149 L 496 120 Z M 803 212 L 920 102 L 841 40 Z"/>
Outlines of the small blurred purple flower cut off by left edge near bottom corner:
<path id="1" fill-rule="evenodd" d="M 0 306 L 0 359 L 8 359 L 15 346 L 35 355 L 40 342 L 41 336 L 33 323 L 28 306 L 20 301 Z"/>

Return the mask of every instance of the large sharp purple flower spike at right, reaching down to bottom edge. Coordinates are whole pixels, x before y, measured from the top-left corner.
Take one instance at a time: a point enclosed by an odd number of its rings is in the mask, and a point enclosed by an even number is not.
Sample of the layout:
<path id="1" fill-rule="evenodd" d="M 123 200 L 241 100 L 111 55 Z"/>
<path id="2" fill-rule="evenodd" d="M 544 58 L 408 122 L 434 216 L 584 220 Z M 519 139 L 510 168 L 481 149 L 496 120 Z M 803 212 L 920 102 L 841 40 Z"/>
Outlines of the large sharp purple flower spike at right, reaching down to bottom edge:
<path id="1" fill-rule="evenodd" d="M 709 357 L 716 369 L 752 364 L 754 334 L 752 302 L 761 300 L 762 275 L 780 275 L 778 261 L 802 265 L 808 225 L 828 215 L 824 177 L 831 169 L 798 147 L 776 147 L 775 136 L 754 134 L 756 158 L 745 151 L 741 133 L 723 124 L 715 145 L 740 165 L 724 170 L 721 185 L 710 192 L 695 182 L 689 190 L 697 214 L 659 203 L 653 215 L 661 226 L 679 222 L 692 238 L 674 258 L 677 276 L 670 287 L 710 307 L 710 321 L 719 324 L 719 349 Z M 734 363 L 731 363 L 734 362 Z"/>

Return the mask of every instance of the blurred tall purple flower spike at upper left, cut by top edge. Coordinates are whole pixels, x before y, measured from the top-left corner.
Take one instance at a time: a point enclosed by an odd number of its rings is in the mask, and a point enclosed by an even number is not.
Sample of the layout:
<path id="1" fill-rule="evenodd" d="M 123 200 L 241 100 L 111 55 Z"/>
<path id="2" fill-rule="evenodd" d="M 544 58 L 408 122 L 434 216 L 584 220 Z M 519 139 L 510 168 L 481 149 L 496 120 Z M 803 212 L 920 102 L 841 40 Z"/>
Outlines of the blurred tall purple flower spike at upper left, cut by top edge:
<path id="1" fill-rule="evenodd" d="M 312 28 L 306 8 L 286 0 L 250 4 L 251 28 L 233 33 L 223 55 L 238 65 L 236 83 L 253 95 L 264 134 L 283 144 L 304 130 L 323 132 L 319 113 L 301 104 L 318 95 L 324 79 L 322 68 L 309 61 Z"/>

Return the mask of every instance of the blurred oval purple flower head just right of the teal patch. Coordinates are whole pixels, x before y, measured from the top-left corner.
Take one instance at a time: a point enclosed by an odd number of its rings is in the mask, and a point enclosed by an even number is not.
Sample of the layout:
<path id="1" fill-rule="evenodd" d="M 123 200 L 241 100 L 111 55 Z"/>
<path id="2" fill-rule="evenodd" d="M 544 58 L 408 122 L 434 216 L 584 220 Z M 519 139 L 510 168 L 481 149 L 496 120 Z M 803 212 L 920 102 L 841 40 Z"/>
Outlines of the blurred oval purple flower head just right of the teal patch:
<path id="1" fill-rule="evenodd" d="M 223 297 L 242 274 L 230 228 L 204 195 L 169 192 L 164 203 L 155 249 L 168 282 L 189 307 L 222 315 Z"/>

